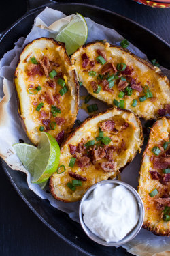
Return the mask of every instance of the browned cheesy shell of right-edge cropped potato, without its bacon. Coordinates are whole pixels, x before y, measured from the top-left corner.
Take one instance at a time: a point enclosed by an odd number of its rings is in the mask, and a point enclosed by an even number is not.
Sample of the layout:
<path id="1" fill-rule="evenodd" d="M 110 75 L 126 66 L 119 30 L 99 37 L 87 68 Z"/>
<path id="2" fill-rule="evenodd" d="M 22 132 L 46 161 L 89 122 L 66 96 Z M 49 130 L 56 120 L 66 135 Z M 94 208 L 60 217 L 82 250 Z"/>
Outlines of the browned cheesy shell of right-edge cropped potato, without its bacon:
<path id="1" fill-rule="evenodd" d="M 164 141 L 168 141 L 169 133 L 170 117 L 159 118 L 150 130 L 150 137 L 146 149 L 143 152 L 143 160 L 139 172 L 138 193 L 143 200 L 145 208 L 143 228 L 152 231 L 152 233 L 157 236 L 170 235 L 170 221 L 163 221 L 163 210 L 159 210 L 156 207 L 156 201 L 154 201 L 154 199 L 163 196 L 165 189 L 167 189 L 169 193 L 170 189 L 168 184 L 161 184 L 159 180 L 153 180 L 149 170 L 153 169 L 151 157 L 154 154 L 152 153 L 152 148 L 163 144 Z M 162 171 L 159 171 L 159 173 L 162 173 Z M 150 197 L 149 193 L 155 188 L 158 190 L 158 194 L 154 197 Z"/>

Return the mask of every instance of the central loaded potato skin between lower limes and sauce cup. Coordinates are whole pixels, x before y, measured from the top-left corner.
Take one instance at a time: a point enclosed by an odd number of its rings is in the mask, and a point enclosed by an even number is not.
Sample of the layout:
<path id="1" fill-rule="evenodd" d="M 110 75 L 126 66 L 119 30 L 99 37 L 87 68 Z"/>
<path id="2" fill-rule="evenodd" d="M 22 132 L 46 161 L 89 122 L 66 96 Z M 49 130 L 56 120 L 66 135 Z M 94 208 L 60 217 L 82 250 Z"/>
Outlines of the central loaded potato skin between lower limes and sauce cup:
<path id="1" fill-rule="evenodd" d="M 52 195 L 65 202 L 80 200 L 93 184 L 115 178 L 142 144 L 141 122 L 131 111 L 114 107 L 89 117 L 61 147 L 50 178 Z"/>

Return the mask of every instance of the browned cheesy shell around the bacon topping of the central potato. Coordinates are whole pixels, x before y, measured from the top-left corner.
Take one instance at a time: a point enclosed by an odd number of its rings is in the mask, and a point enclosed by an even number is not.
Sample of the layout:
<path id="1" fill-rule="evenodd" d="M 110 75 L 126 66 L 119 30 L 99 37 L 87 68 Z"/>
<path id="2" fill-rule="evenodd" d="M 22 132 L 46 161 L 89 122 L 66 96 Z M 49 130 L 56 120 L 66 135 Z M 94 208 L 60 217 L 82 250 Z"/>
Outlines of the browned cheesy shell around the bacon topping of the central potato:
<path id="1" fill-rule="evenodd" d="M 96 126 L 99 124 L 99 120 L 100 121 L 107 120 L 107 118 L 110 118 L 110 117 L 114 118 L 116 114 L 120 115 L 119 117 L 120 119 L 124 117 L 125 121 L 129 122 L 131 126 L 131 131 L 134 132 L 133 135 L 129 135 L 129 136 L 133 137 L 133 139 L 135 138 L 134 140 L 130 139 L 132 141 L 131 150 L 129 150 L 129 145 L 127 145 L 126 153 L 124 154 L 123 152 L 124 155 L 120 153 L 120 159 L 118 161 L 116 158 L 116 161 L 118 162 L 118 169 L 116 169 L 116 171 L 106 173 L 101 168 L 99 168 L 99 166 L 97 166 L 97 169 L 96 169 L 96 167 L 92 165 L 92 163 L 90 163 L 88 167 L 84 167 L 83 169 L 80 169 L 76 165 L 76 162 L 73 169 L 71 167 L 68 167 L 69 160 L 71 158 L 68 145 L 69 144 L 78 145 L 78 143 L 80 143 L 80 139 L 82 138 L 86 140 L 87 139 L 86 134 L 89 134 L 87 129 L 95 130 Z M 128 130 L 127 132 L 129 133 Z M 98 136 L 98 132 L 97 134 L 95 134 L 95 137 L 97 136 Z M 123 136 L 124 135 L 122 135 L 122 137 Z M 90 139 L 92 139 L 92 137 L 90 137 Z M 90 139 L 88 138 L 88 140 Z M 126 167 L 126 165 L 128 165 L 129 162 L 133 160 L 133 158 L 137 154 L 137 151 L 138 150 L 141 151 L 142 144 L 143 144 L 143 133 L 142 133 L 141 122 L 135 114 L 131 113 L 131 111 L 124 110 L 124 109 L 117 109 L 116 107 L 114 107 L 112 109 L 107 109 L 106 111 L 103 111 L 101 113 L 88 117 L 82 124 L 80 124 L 78 128 L 75 128 L 75 130 L 71 134 L 69 134 L 69 137 L 66 139 L 65 143 L 61 147 L 61 160 L 58 166 L 65 165 L 66 171 L 62 174 L 54 173 L 54 175 L 50 177 L 50 191 L 52 195 L 54 196 L 55 199 L 58 199 L 64 202 L 73 202 L 73 201 L 80 200 L 81 197 L 86 192 L 86 190 L 88 190 L 88 188 L 90 188 L 92 184 L 95 184 L 96 182 L 99 182 L 101 180 L 107 180 L 108 178 L 115 178 L 116 175 L 118 175 L 118 173 L 122 171 Z M 118 145 L 118 142 L 116 145 Z M 129 154 L 130 151 L 131 151 L 131 154 Z M 121 160 L 121 157 L 124 158 L 124 160 Z M 122 165 L 120 164 L 120 162 L 122 163 Z M 69 171 L 73 171 L 74 173 L 77 173 L 87 178 L 86 181 L 82 182 L 81 187 L 76 188 L 74 193 L 67 187 L 67 182 L 71 182 L 71 179 L 72 179 L 69 176 Z"/>

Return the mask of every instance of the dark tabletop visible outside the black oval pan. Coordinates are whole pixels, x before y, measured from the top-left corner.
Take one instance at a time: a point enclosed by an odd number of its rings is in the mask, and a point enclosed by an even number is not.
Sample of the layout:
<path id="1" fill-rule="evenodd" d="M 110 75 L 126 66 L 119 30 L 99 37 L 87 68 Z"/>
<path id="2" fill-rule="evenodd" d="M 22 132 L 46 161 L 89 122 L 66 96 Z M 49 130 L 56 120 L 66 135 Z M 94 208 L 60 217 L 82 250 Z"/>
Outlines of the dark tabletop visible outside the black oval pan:
<path id="1" fill-rule="evenodd" d="M 74 2 L 89 3 L 122 14 L 147 27 L 170 43 L 170 8 L 149 8 L 138 5 L 131 0 L 84 0 Z M 26 11 L 26 0 L 1 1 L 0 31 L 10 27 Z M 161 49 L 158 49 L 158 51 L 161 51 Z M 63 242 L 61 238 L 58 238 L 39 221 L 37 216 L 31 212 L 16 193 L 3 170 L 0 171 L 0 180 L 1 256 L 82 256 L 82 253 Z"/>

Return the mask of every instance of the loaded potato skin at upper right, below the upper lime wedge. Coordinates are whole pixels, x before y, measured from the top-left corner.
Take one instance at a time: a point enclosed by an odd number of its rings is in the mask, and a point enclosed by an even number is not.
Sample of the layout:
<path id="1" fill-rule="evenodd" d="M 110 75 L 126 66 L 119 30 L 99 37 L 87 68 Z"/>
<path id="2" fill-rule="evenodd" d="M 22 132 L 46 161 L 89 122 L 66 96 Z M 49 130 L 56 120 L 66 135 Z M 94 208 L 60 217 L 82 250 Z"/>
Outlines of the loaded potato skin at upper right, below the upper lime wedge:
<path id="1" fill-rule="evenodd" d="M 160 68 L 128 50 L 91 42 L 71 56 L 78 79 L 95 98 L 144 119 L 169 113 L 170 85 Z"/>

